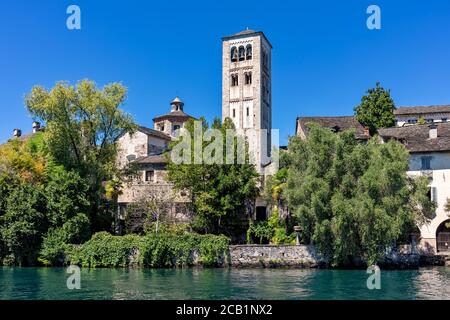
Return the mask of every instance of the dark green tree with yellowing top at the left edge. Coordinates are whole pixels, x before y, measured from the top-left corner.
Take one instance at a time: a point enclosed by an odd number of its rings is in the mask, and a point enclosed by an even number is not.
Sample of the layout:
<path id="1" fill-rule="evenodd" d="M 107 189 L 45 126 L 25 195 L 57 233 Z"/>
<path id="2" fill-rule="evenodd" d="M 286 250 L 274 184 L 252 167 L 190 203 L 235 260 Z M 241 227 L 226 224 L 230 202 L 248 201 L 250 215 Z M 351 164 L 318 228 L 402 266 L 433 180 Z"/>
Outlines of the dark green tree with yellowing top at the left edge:
<path id="1" fill-rule="evenodd" d="M 0 261 L 33 265 L 52 230 L 67 243 L 90 236 L 88 184 L 45 155 L 42 133 L 0 146 Z M 53 237 L 54 238 L 54 237 Z"/>

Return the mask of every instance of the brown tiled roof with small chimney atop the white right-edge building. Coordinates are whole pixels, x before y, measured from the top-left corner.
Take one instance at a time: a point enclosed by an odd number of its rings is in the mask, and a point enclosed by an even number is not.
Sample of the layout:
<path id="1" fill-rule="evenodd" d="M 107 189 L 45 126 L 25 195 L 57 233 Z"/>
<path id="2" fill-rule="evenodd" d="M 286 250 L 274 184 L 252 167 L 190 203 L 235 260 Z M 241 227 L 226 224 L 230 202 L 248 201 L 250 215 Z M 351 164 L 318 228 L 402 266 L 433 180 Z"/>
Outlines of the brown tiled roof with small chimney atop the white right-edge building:
<path id="1" fill-rule="evenodd" d="M 450 151 L 450 123 L 439 123 L 437 138 L 430 138 L 428 125 L 382 128 L 378 130 L 384 140 L 396 139 L 402 142 L 410 152 Z"/>

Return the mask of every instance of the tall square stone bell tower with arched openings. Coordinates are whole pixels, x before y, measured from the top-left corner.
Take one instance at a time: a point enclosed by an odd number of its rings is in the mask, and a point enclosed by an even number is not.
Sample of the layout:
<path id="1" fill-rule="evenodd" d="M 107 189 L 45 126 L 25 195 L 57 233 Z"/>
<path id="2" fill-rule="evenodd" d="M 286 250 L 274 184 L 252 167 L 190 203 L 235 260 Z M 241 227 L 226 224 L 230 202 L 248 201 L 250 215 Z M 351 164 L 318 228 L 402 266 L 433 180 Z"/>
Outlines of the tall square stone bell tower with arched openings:
<path id="1" fill-rule="evenodd" d="M 233 120 L 249 143 L 259 173 L 270 163 L 272 45 L 262 32 L 245 30 L 222 38 L 222 121 Z"/>

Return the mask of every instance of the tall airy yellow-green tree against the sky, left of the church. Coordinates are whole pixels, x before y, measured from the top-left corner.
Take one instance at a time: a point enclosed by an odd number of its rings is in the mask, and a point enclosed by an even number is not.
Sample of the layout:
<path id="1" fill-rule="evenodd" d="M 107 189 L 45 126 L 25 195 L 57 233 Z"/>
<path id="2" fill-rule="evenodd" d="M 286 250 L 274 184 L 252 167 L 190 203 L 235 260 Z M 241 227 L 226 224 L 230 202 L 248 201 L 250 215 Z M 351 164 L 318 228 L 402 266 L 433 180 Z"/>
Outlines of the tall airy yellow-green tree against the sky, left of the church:
<path id="1" fill-rule="evenodd" d="M 105 226 L 102 183 L 120 176 L 116 169 L 116 139 L 135 128 L 120 106 L 126 88 L 119 83 L 97 88 L 83 80 L 76 86 L 60 82 L 51 90 L 35 86 L 25 99 L 34 118 L 46 125 L 46 148 L 52 160 L 75 170 L 89 187 L 90 215 L 96 229 Z M 110 213 L 106 214 L 109 217 Z"/>

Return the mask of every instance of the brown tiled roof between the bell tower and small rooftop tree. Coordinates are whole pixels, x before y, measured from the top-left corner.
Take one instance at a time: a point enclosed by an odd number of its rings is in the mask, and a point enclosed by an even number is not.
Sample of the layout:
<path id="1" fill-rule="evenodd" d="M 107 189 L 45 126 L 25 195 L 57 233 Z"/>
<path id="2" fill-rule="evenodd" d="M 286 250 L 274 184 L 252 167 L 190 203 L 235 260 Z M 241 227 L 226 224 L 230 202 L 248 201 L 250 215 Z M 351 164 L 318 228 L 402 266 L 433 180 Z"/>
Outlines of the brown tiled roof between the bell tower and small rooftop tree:
<path id="1" fill-rule="evenodd" d="M 340 117 L 298 117 L 297 129 L 303 130 L 305 134 L 308 134 L 308 124 L 316 123 L 324 128 L 329 128 L 333 131 L 345 131 L 349 129 L 355 129 L 355 138 L 361 140 L 367 140 L 370 138 L 368 132 L 353 116 L 340 116 Z"/>

